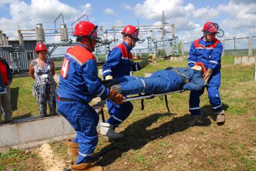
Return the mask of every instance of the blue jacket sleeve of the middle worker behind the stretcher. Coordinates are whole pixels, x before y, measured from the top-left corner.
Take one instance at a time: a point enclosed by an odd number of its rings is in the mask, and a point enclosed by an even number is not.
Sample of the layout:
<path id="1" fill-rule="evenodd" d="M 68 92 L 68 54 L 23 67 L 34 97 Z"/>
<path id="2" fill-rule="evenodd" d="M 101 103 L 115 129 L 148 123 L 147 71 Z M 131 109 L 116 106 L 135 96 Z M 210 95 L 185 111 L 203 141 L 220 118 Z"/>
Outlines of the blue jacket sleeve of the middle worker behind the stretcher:
<path id="1" fill-rule="evenodd" d="M 114 48 L 108 55 L 107 61 L 102 68 L 102 76 L 105 79 L 107 76 L 112 76 L 112 70 L 117 67 L 121 61 L 122 52 L 119 48 Z"/>

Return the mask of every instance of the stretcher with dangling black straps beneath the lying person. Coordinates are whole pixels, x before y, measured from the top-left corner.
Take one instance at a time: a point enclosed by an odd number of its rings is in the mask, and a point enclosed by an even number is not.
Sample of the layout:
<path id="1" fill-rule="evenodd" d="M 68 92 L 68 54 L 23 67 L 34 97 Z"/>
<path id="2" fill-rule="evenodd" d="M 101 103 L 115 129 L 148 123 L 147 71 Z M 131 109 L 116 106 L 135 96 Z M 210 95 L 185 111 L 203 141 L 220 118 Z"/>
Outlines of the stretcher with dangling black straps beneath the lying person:
<path id="1" fill-rule="evenodd" d="M 122 100 L 122 101 L 123 102 L 128 102 L 128 101 L 134 101 L 134 100 L 141 100 L 142 110 L 144 110 L 144 108 L 145 108 L 144 99 L 151 99 L 151 98 L 154 98 L 154 97 L 160 97 L 160 99 L 163 100 L 163 98 L 161 98 L 161 97 L 164 96 L 164 101 L 165 101 L 165 104 L 166 104 L 166 108 L 167 108 L 168 112 L 170 113 L 170 109 L 169 109 L 169 106 L 168 106 L 167 95 L 174 94 L 176 92 L 184 92 L 184 89 L 181 89 L 181 90 L 178 90 L 178 91 L 172 91 L 172 92 L 165 92 L 165 93 L 161 93 L 161 94 L 144 94 L 144 95 L 140 94 L 140 95 L 125 98 L 125 100 Z"/>

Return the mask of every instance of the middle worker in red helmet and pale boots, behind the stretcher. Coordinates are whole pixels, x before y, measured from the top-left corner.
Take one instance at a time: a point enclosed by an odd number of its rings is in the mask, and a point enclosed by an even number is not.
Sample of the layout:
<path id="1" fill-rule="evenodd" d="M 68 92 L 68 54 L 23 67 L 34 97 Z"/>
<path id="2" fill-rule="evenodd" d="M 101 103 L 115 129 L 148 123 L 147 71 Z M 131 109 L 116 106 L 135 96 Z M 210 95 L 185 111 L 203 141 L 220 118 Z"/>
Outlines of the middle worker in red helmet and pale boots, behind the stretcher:
<path id="1" fill-rule="evenodd" d="M 123 29 L 122 35 L 123 42 L 111 50 L 103 66 L 102 75 L 105 80 L 130 76 L 130 71 L 141 70 L 155 59 L 154 55 L 149 55 L 143 61 L 133 62 L 133 55 L 130 51 L 135 47 L 137 41 L 140 43 L 139 29 L 128 25 Z M 114 132 L 114 128 L 118 127 L 130 115 L 133 111 L 133 104 L 126 102 L 117 105 L 113 101 L 107 100 L 107 107 L 110 118 L 101 123 L 101 134 L 107 140 L 121 139 L 123 134 Z"/>

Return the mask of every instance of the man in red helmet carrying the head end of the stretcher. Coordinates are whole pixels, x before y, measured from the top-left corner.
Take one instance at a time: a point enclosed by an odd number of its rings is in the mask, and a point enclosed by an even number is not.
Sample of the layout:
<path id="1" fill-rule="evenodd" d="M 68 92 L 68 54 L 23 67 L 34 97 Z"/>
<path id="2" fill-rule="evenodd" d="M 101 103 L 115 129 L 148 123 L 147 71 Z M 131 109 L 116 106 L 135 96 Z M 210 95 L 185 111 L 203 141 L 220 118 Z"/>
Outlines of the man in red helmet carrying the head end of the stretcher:
<path id="1" fill-rule="evenodd" d="M 218 125 L 224 124 L 225 116 L 224 110 L 222 110 L 222 103 L 220 101 L 219 87 L 220 87 L 220 62 L 222 55 L 222 43 L 217 40 L 218 37 L 222 37 L 224 32 L 219 29 L 217 23 L 207 22 L 202 29 L 204 36 L 195 40 L 189 52 L 189 58 L 187 59 L 189 67 L 193 67 L 196 62 L 202 62 L 207 68 L 207 72 L 204 77 L 205 84 L 207 85 L 208 98 Z M 219 35 L 221 32 L 222 35 Z M 187 124 L 195 125 L 202 119 L 201 110 L 199 107 L 200 96 L 204 93 L 204 89 L 201 91 L 190 92 L 189 98 L 189 111 L 193 116 L 193 119 Z"/>

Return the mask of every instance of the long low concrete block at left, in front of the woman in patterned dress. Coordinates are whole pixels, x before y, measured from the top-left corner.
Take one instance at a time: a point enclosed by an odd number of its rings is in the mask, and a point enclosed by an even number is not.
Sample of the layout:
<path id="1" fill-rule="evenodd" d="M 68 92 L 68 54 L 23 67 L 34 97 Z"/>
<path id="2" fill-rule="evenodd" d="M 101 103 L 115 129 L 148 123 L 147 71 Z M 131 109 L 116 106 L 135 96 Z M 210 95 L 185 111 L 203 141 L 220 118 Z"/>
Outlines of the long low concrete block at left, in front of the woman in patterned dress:
<path id="1" fill-rule="evenodd" d="M 0 125 L 0 132 L 0 148 L 75 134 L 61 115 Z"/>

